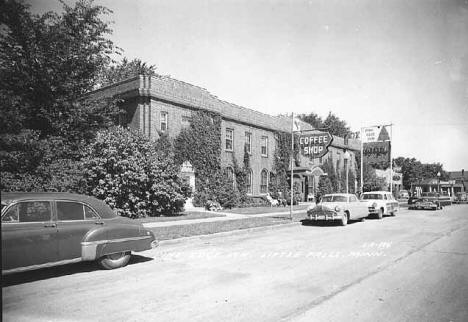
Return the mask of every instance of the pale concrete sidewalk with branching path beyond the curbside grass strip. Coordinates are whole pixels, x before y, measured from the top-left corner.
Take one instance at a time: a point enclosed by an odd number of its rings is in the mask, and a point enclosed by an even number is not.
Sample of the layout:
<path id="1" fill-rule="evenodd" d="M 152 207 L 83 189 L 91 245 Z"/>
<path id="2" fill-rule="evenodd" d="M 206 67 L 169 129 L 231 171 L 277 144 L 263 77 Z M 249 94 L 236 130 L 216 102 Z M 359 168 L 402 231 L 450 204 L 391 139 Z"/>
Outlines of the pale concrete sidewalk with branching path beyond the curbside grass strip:
<path id="1" fill-rule="evenodd" d="M 205 210 L 204 208 L 194 208 L 194 209 L 190 209 L 190 211 L 209 212 Z M 304 217 L 305 217 L 305 212 L 306 212 L 305 210 L 294 210 L 293 214 L 304 213 Z M 198 223 L 209 223 L 209 222 L 228 221 L 228 220 L 255 218 L 255 217 L 289 216 L 289 208 L 283 211 L 270 212 L 270 213 L 264 213 L 264 214 L 254 214 L 254 215 L 234 214 L 234 213 L 219 212 L 219 211 L 212 212 L 212 213 L 223 215 L 224 217 L 151 222 L 151 223 L 144 223 L 143 226 L 145 226 L 146 228 L 170 227 L 170 226 L 184 226 L 184 225 L 192 225 L 192 224 L 198 224 Z"/>

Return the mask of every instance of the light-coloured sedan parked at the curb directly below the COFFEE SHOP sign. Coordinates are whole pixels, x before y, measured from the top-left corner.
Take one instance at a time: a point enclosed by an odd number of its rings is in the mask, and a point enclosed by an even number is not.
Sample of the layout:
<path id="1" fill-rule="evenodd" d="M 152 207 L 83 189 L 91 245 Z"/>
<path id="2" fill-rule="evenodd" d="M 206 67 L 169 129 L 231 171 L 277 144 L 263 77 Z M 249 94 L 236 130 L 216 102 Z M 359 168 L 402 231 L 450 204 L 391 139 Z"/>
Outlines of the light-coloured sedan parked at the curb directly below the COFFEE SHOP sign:
<path id="1" fill-rule="evenodd" d="M 368 216 L 367 206 L 354 194 L 334 193 L 324 195 L 320 202 L 307 209 L 307 220 L 337 220 L 345 226 L 349 220 Z"/>

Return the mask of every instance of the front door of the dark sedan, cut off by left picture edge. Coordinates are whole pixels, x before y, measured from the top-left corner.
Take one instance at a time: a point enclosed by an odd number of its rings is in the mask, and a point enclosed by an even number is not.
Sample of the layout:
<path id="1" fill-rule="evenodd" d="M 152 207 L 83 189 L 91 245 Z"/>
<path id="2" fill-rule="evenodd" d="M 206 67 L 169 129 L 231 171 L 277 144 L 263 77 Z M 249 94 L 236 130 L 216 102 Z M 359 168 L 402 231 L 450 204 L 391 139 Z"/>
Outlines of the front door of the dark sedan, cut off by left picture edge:
<path id="1" fill-rule="evenodd" d="M 21 201 L 2 214 L 2 270 L 58 260 L 57 225 L 51 201 Z"/>

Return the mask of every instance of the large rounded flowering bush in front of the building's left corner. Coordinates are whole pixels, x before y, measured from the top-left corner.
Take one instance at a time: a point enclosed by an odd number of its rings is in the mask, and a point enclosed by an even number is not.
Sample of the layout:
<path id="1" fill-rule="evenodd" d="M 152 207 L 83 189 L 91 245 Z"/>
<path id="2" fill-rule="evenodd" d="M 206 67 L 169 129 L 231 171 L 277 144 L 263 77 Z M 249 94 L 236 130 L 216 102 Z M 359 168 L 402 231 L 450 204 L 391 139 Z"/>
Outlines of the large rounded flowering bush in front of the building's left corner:
<path id="1" fill-rule="evenodd" d="M 131 218 L 182 211 L 189 189 L 172 152 L 155 147 L 121 127 L 99 132 L 83 159 L 88 193 Z"/>

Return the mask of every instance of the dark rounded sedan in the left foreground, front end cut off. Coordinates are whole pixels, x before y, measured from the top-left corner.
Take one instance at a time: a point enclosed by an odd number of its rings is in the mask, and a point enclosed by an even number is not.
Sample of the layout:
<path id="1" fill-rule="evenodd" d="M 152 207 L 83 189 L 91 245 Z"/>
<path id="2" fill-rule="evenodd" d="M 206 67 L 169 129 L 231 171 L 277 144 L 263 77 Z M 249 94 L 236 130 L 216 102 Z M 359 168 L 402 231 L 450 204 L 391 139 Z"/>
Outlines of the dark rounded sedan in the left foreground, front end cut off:
<path id="1" fill-rule="evenodd" d="M 131 252 L 158 245 L 140 223 L 103 201 L 70 193 L 2 193 L 2 274 L 97 261 L 125 266 Z"/>

